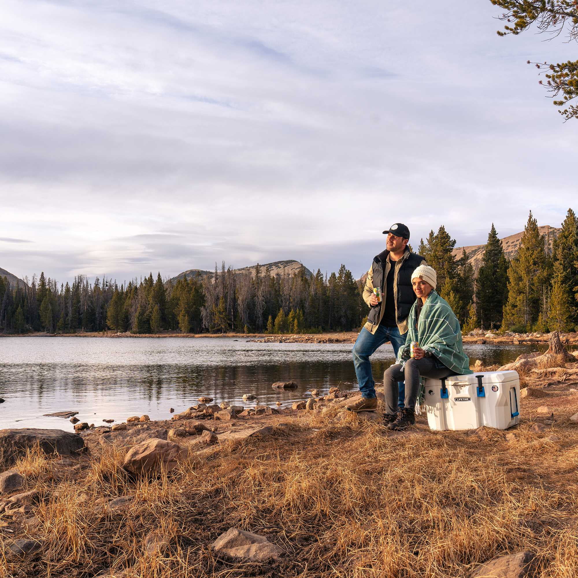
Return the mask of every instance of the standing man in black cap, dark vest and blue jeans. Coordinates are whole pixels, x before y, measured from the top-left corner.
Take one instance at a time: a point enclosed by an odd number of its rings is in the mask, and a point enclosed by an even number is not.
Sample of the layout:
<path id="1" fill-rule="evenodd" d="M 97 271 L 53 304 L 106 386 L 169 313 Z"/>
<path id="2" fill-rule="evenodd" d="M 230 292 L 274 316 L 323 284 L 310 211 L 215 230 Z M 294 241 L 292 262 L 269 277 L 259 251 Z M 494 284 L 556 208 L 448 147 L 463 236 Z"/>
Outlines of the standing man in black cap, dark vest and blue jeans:
<path id="1" fill-rule="evenodd" d="M 359 401 L 345 406 L 351 412 L 377 409 L 375 381 L 369 357 L 378 347 L 390 341 L 397 358 L 399 347 L 405 344 L 406 319 L 416 300 L 412 288 L 412 273 L 419 265 L 425 264 L 424 257 L 412 253 L 407 247 L 409 229 L 403 223 L 391 225 L 383 234 L 387 235 L 386 250 L 373 259 L 363 291 L 364 301 L 371 310 L 367 323 L 353 346 L 353 362 L 362 397 Z M 381 302 L 373 292 L 374 287 L 381 288 Z M 403 407 L 404 397 L 405 386 L 401 381 L 399 407 Z"/>

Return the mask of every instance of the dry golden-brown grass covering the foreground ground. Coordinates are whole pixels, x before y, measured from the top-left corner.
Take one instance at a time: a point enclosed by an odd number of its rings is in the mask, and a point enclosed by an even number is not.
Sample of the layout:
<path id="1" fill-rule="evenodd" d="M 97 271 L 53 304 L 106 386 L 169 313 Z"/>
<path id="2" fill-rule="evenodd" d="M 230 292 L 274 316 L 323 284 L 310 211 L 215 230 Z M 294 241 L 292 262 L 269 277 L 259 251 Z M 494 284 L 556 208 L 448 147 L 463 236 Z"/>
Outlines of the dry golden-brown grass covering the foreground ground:
<path id="1" fill-rule="evenodd" d="M 495 555 L 531 550 L 540 578 L 576 578 L 578 427 L 554 427 L 560 440 L 552 442 L 530 425 L 516 429 L 516 443 L 494 430 L 393 438 L 355 416 L 336 423 L 329 412 L 303 412 L 279 435 L 229 442 L 140 481 L 125 476 L 124 452 L 109 447 L 76 483 L 45 482 L 58 492 L 28 532 L 46 540 L 45 559 L 5 573 L 465 578 Z M 104 495 L 134 501 L 104 516 L 94 509 Z M 266 535 L 284 561 L 213 554 L 210 543 L 232 526 Z M 170 546 L 146 554 L 151 531 Z"/>

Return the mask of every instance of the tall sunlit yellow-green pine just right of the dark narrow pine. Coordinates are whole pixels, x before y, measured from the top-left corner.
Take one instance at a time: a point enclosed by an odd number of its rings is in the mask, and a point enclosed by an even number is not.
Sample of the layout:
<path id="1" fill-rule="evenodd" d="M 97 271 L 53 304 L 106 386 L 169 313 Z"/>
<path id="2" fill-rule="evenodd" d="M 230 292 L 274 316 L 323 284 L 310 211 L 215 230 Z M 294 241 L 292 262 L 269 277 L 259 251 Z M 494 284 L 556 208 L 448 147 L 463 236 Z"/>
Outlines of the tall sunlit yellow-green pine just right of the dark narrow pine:
<path id="1" fill-rule="evenodd" d="M 518 254 L 508 269 L 508 299 L 503 326 L 531 331 L 540 316 L 540 301 L 547 285 L 549 262 L 544 239 L 532 212 L 524 228 Z"/>

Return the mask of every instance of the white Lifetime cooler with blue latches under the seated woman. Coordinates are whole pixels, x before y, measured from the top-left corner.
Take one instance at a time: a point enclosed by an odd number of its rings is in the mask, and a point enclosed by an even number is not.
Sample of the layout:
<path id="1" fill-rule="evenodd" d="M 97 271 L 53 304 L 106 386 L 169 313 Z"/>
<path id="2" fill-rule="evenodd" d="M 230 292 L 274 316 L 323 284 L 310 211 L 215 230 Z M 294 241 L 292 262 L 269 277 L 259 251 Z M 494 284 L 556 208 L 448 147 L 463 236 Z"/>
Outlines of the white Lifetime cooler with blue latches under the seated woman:
<path id="1" fill-rule="evenodd" d="M 430 429 L 507 429 L 520 421 L 520 377 L 490 371 L 425 380 L 424 405 Z"/>

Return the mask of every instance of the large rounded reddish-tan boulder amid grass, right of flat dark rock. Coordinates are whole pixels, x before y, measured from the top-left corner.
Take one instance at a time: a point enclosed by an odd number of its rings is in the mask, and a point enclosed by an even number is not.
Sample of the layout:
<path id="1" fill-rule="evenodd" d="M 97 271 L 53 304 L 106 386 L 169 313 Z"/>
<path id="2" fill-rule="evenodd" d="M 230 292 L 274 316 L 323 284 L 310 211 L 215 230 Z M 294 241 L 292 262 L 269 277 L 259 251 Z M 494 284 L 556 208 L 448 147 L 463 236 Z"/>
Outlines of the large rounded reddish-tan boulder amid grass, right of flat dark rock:
<path id="1" fill-rule="evenodd" d="M 149 439 L 128 450 L 123 468 L 135 475 L 157 475 L 175 469 L 186 457 L 187 449 L 175 442 Z"/>

